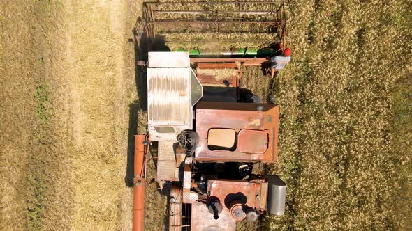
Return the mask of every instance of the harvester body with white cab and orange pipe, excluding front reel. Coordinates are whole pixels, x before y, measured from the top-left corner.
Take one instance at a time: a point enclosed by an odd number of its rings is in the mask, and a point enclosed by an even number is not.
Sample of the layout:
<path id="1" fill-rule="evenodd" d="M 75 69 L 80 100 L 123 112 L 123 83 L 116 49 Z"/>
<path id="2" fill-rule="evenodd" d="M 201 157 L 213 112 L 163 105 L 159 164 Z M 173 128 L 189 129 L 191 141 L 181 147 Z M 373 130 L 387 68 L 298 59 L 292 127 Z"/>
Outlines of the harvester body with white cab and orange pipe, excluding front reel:
<path id="1" fill-rule="evenodd" d="M 165 56 L 174 63 L 160 67 Z M 204 100 L 208 82 L 197 79 L 186 52 L 150 52 L 147 74 L 149 136 L 135 140 L 134 230 L 144 218 L 144 141 L 159 143 L 156 181 L 170 188 L 170 230 L 235 230 L 237 221 L 283 214 L 285 184 L 251 172 L 277 161 L 279 105 Z M 221 98 L 240 98 L 234 89 Z"/>

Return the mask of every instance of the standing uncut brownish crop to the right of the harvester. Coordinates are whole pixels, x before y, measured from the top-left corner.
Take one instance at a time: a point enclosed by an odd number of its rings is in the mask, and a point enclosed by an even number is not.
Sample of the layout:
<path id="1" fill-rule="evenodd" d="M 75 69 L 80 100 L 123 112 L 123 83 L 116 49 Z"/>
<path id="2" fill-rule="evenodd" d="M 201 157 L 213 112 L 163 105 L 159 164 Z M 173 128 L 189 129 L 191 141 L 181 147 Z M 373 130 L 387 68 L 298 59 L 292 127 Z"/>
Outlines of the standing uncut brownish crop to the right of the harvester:
<path id="1" fill-rule="evenodd" d="M 411 63 L 411 5 L 290 1 L 288 15 L 292 62 L 273 86 L 280 161 L 269 170 L 288 184 L 287 206 L 263 228 L 404 229 L 411 130 L 396 126 L 392 89 Z"/>

